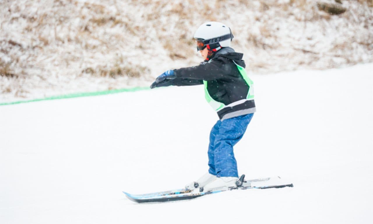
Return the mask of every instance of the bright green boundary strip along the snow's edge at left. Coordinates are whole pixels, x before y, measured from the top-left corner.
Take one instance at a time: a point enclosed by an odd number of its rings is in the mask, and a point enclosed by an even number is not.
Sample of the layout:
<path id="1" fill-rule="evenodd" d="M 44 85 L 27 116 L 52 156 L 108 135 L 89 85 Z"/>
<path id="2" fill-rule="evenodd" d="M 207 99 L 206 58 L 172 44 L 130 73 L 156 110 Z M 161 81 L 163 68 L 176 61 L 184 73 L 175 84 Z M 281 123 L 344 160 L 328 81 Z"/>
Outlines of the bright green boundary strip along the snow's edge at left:
<path id="1" fill-rule="evenodd" d="M 122 88 L 122 89 L 117 89 L 117 90 L 88 92 L 88 93 L 72 93 L 72 94 L 65 94 L 61 96 L 51 96 L 51 97 L 33 99 L 33 100 L 21 100 L 21 101 L 16 101 L 16 102 L 0 103 L 0 106 L 13 105 L 13 104 L 19 104 L 19 103 L 37 102 L 37 101 L 43 101 L 43 100 L 68 99 L 68 98 L 86 97 L 86 96 L 100 96 L 100 95 L 122 93 L 122 92 L 135 92 L 135 91 L 140 91 L 140 90 L 150 90 L 150 88 L 149 87 L 134 87 L 134 88 Z"/>

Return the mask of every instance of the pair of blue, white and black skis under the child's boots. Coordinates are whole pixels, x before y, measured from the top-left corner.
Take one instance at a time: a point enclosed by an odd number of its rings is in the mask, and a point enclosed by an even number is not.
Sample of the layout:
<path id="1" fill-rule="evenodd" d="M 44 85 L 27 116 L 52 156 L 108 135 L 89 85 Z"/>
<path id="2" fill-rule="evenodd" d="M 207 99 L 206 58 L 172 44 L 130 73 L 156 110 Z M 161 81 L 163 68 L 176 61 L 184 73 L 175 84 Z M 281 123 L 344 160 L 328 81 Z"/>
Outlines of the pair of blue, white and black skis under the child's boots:
<path id="1" fill-rule="evenodd" d="M 242 177 L 242 176 L 241 176 Z M 176 200 L 188 200 L 204 195 L 211 195 L 228 190 L 245 190 L 245 189 L 268 189 L 268 188 L 281 188 L 281 187 L 293 187 L 293 184 L 281 179 L 280 177 L 267 177 L 254 180 L 243 180 L 242 183 L 238 184 L 238 187 L 229 187 L 223 189 L 217 189 L 208 192 L 196 192 L 196 190 L 177 189 L 169 190 L 164 192 L 154 192 L 141 195 L 132 195 L 127 192 L 123 192 L 128 199 L 142 203 L 142 202 L 170 202 Z M 241 178 L 240 178 L 241 179 Z"/>

